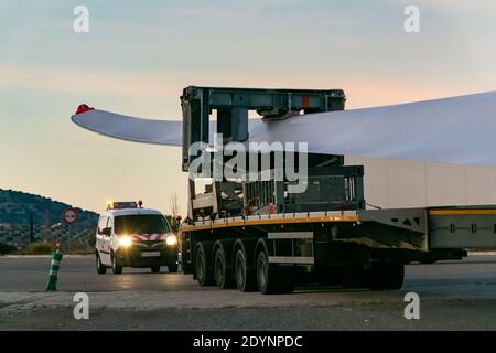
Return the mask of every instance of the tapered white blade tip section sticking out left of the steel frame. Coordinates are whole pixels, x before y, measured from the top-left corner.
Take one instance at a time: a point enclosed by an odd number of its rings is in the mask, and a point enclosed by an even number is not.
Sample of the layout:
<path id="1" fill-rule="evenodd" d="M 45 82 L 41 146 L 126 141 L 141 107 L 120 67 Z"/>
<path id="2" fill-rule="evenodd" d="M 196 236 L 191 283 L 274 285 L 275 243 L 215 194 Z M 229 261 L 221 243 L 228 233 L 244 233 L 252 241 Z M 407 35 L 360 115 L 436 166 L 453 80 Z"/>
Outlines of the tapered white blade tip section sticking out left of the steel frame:
<path id="1" fill-rule="evenodd" d="M 182 146 L 180 120 L 141 119 L 98 109 L 73 115 L 71 119 L 85 129 L 122 140 Z"/>

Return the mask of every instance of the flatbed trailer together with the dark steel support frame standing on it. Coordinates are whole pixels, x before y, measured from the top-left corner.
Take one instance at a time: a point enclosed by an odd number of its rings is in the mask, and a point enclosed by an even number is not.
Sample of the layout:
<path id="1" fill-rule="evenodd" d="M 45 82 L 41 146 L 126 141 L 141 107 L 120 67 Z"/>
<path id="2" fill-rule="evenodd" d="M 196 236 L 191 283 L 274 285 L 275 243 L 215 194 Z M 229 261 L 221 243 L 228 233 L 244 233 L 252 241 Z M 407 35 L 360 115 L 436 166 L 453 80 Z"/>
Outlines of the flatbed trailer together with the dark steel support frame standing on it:
<path id="1" fill-rule="evenodd" d="M 301 111 L 343 110 L 345 100 L 342 89 L 186 87 L 183 171 L 200 158 L 191 146 L 208 146 L 211 132 L 223 133 L 222 148 L 249 141 L 249 110 L 265 124 L 277 120 L 276 129 Z M 216 131 L 209 131 L 214 110 Z M 338 131 L 330 131 L 330 139 L 333 133 Z M 344 165 L 343 156 L 304 156 L 306 189 L 299 193 L 290 191 L 282 167 L 255 182 L 213 178 L 201 192 L 190 174 L 188 217 L 180 227 L 183 271 L 202 286 L 262 293 L 291 292 L 309 281 L 384 290 L 402 286 L 408 263 L 461 259 L 467 249 L 496 248 L 494 205 L 368 210 L 363 165 Z M 216 176 L 218 165 L 203 169 Z"/>

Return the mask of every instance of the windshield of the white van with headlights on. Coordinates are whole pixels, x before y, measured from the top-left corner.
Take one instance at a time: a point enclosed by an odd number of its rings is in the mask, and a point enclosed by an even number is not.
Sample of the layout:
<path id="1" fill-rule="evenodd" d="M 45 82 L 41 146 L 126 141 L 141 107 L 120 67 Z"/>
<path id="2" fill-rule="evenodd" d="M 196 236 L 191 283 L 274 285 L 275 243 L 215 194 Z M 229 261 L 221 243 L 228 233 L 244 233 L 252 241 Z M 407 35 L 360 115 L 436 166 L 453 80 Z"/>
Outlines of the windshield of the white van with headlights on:
<path id="1" fill-rule="evenodd" d="M 139 214 L 116 216 L 116 234 L 153 234 L 169 233 L 171 229 L 164 216 L 158 214 Z"/>

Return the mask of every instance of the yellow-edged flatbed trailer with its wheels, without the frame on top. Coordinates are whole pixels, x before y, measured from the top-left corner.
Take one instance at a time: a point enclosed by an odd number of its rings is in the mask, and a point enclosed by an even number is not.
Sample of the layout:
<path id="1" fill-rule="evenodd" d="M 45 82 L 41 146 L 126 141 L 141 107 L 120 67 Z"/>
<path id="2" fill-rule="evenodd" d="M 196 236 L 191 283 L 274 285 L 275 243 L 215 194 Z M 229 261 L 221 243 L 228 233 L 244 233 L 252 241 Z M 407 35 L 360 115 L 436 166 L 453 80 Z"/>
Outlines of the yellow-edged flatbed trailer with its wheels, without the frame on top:
<path id="1" fill-rule="evenodd" d="M 203 286 L 291 292 L 300 282 L 398 289 L 403 265 L 496 248 L 496 206 L 269 214 L 181 227 L 182 266 Z"/>

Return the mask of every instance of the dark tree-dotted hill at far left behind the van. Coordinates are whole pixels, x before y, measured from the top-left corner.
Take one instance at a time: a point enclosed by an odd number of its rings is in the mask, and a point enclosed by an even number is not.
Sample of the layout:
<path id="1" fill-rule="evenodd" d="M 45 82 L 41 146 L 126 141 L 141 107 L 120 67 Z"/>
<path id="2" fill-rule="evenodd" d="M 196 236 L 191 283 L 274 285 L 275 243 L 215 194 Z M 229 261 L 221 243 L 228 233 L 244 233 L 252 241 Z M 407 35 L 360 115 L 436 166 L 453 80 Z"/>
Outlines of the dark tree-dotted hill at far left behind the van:
<path id="1" fill-rule="evenodd" d="M 30 215 L 33 215 L 35 239 L 63 237 L 67 227 L 62 223 L 62 213 L 72 206 L 41 195 L 0 189 L 0 242 L 25 243 Z M 72 228 L 73 239 L 86 242 L 95 232 L 98 214 L 73 207 L 78 212 L 78 220 Z"/>

